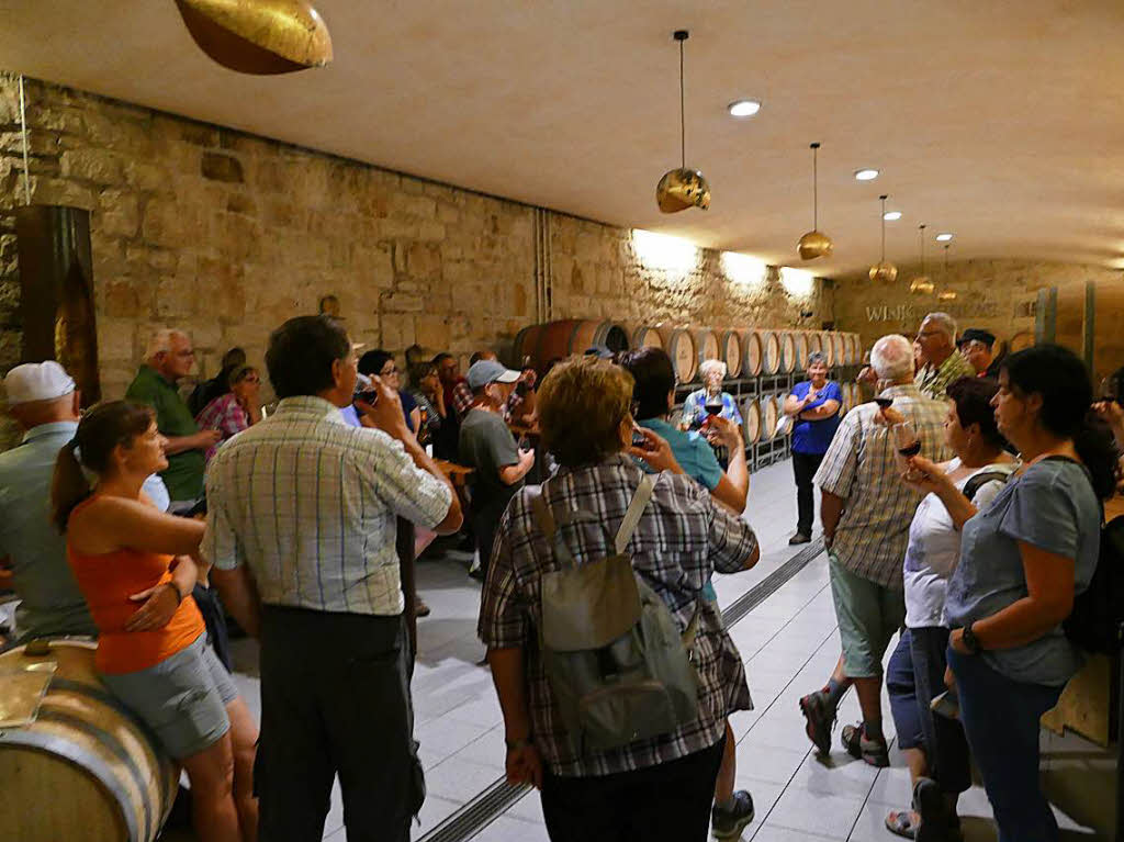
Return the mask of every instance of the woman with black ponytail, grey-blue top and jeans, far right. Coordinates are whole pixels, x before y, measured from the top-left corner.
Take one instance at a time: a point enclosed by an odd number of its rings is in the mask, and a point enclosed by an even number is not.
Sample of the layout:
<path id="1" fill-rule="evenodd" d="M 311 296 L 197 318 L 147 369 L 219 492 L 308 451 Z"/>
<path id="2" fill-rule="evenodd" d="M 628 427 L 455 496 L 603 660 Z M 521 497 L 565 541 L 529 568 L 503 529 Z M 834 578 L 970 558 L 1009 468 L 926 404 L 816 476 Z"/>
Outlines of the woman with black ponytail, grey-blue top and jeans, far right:
<path id="1" fill-rule="evenodd" d="M 1115 443 L 1091 404 L 1085 364 L 1063 347 L 1004 361 L 992 406 L 1022 465 L 964 523 L 949 581 L 949 668 L 999 842 L 1058 839 L 1039 785 L 1039 719 L 1084 661 L 1062 622 L 1096 570 L 1100 501 L 1117 473 Z"/>

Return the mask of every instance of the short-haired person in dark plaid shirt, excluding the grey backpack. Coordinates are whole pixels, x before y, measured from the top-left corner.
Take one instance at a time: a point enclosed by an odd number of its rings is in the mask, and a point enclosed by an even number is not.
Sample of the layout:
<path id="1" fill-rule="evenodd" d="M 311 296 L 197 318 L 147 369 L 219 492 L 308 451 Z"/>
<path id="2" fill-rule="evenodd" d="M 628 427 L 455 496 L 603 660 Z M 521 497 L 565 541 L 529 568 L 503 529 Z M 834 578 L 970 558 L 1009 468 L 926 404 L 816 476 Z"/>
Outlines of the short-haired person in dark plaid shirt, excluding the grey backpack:
<path id="1" fill-rule="evenodd" d="M 561 465 L 543 485 L 543 500 L 556 520 L 574 509 L 596 518 L 560 525 L 561 534 L 580 561 L 606 558 L 644 476 L 624 453 L 634 428 L 632 378 L 605 360 L 569 360 L 545 378 L 538 400 L 543 443 Z M 644 435 L 659 447 L 644 451 L 644 459 L 677 469 L 667 443 Z M 537 528 L 531 491 L 516 496 L 500 522 L 479 634 L 504 709 L 508 780 L 541 786 L 553 842 L 700 839 L 726 715 L 752 707 L 737 649 L 700 594 L 714 570 L 752 567 L 760 555 L 756 537 L 705 488 L 671 470 L 659 476 L 626 552 L 680 630 L 699 612 L 699 712 L 667 734 L 620 749 L 574 745 L 546 678 L 538 649 L 542 578 L 559 561 Z"/>

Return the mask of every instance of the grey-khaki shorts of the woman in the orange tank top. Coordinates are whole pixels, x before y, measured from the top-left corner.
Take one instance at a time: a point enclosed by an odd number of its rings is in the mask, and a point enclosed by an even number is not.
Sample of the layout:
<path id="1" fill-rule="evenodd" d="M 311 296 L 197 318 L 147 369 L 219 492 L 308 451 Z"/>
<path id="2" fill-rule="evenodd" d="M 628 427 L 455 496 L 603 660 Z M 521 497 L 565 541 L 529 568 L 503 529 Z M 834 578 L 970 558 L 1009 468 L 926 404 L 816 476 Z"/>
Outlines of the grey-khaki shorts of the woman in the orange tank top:
<path id="1" fill-rule="evenodd" d="M 209 749 L 230 730 L 226 706 L 238 690 L 206 641 L 206 633 L 200 634 L 190 646 L 146 670 L 101 676 L 176 760 Z"/>

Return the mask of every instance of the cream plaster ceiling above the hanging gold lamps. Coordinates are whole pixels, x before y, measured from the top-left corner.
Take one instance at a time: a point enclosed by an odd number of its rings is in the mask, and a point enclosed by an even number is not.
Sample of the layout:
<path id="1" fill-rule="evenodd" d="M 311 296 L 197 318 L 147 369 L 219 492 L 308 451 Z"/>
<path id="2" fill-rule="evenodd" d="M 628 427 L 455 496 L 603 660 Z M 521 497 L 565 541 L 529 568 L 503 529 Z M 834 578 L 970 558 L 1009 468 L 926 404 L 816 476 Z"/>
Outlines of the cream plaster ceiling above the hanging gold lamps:
<path id="1" fill-rule="evenodd" d="M 1121 0 L 317 0 L 335 62 L 244 76 L 172 0 L 0 0 L 0 66 L 623 226 L 835 274 L 917 225 L 953 257 L 1124 266 Z M 663 216 L 687 163 L 709 211 Z M 735 120 L 726 103 L 764 101 Z M 801 264 L 819 157 L 830 262 Z M 877 166 L 859 183 L 852 172 Z M 937 252 L 931 242 L 931 255 Z"/>

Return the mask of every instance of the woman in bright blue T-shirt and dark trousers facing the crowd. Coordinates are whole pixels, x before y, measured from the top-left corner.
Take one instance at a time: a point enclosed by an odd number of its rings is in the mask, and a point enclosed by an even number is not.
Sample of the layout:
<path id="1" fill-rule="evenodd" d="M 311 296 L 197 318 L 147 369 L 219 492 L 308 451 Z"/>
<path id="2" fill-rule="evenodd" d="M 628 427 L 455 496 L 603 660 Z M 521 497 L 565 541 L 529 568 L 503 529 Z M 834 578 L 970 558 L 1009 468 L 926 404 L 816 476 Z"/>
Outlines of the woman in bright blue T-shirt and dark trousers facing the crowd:
<path id="1" fill-rule="evenodd" d="M 808 354 L 808 379 L 792 387 L 783 406 L 785 415 L 792 419 L 792 473 L 798 510 L 796 534 L 789 538 L 789 544 L 812 541 L 815 514 L 812 478 L 839 428 L 842 406 L 840 384 L 827 379 L 827 357 L 819 351 Z"/>

